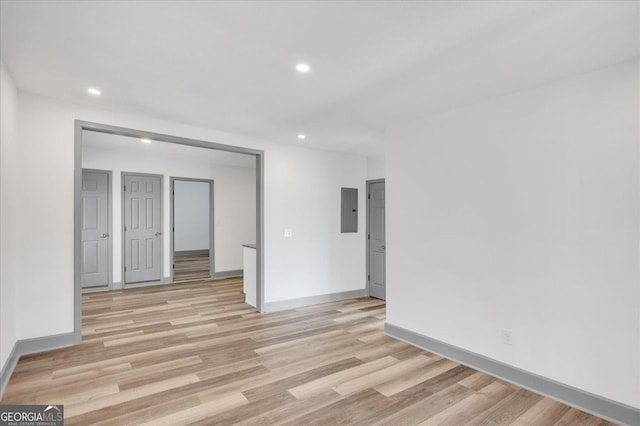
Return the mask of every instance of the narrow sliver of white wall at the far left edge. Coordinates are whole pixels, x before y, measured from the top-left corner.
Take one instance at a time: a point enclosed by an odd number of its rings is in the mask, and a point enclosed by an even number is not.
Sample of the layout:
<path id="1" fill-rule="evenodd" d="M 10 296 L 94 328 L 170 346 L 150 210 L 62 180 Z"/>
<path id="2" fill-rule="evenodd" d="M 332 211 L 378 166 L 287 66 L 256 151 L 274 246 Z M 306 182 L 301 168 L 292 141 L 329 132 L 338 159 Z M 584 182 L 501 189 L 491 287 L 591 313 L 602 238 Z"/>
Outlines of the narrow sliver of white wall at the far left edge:
<path id="1" fill-rule="evenodd" d="M 17 92 L 0 62 L 0 370 L 16 342 Z"/>

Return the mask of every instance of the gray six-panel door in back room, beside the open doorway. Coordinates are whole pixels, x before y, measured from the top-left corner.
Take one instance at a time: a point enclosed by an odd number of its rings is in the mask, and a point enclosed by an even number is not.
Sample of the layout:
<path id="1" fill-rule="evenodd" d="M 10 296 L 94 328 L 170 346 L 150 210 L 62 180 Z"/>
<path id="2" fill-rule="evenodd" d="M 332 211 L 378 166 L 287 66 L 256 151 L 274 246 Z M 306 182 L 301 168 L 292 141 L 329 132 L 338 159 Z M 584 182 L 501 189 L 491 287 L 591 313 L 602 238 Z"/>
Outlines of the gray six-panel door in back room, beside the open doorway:
<path id="1" fill-rule="evenodd" d="M 124 175 L 124 282 L 160 280 L 161 177 Z"/>

